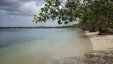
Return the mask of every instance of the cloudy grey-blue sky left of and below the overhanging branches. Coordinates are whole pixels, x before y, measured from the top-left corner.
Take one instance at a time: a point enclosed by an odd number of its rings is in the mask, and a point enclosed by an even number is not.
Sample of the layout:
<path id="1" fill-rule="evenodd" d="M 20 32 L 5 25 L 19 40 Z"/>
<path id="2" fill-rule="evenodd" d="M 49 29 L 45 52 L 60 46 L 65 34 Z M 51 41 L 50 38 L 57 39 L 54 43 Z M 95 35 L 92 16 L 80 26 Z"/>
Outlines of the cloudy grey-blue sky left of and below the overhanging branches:
<path id="1" fill-rule="evenodd" d="M 0 27 L 58 26 L 57 22 L 32 22 L 44 0 L 0 0 Z"/>

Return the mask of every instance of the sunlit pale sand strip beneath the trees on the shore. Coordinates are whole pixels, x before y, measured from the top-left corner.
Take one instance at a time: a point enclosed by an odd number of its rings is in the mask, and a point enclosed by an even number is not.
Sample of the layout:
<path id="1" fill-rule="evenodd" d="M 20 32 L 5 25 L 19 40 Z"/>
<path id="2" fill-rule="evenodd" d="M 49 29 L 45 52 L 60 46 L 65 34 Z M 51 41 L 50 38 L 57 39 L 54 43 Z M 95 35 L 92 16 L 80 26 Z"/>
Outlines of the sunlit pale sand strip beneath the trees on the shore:
<path id="1" fill-rule="evenodd" d="M 113 35 L 97 35 L 98 32 L 86 32 L 90 38 L 93 50 L 109 50 L 113 49 Z"/>

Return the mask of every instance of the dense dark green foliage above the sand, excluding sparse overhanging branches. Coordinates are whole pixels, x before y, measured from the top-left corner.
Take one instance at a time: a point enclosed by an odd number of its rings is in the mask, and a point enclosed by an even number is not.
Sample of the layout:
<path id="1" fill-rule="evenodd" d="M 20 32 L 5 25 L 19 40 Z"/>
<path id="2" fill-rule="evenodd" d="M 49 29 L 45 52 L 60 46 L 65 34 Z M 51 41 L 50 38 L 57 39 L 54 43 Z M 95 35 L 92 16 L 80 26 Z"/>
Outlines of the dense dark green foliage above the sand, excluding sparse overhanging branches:
<path id="1" fill-rule="evenodd" d="M 80 21 L 82 27 L 106 29 L 113 26 L 113 2 L 107 0 L 88 1 L 82 8 Z"/>

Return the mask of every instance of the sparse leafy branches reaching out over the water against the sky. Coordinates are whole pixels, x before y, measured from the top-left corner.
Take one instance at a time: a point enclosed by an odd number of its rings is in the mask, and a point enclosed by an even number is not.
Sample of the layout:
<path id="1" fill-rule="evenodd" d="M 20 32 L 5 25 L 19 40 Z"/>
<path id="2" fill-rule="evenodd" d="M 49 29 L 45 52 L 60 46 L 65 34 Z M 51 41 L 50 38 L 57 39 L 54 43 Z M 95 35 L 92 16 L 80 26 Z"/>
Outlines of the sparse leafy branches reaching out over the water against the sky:
<path id="1" fill-rule="evenodd" d="M 33 22 L 41 22 L 46 20 L 58 20 L 58 24 L 68 24 L 77 18 L 77 6 L 79 0 L 46 0 L 45 6 L 41 8 L 41 12 L 34 16 Z"/>

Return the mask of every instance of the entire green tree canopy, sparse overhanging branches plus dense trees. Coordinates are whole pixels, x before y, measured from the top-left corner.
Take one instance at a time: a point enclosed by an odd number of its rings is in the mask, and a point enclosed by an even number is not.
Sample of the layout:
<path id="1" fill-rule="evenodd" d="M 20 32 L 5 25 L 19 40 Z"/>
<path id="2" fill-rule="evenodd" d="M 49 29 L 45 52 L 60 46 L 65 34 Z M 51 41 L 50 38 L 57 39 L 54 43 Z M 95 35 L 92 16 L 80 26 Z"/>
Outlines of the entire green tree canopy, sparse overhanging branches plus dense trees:
<path id="1" fill-rule="evenodd" d="M 58 20 L 58 24 L 79 21 L 79 27 L 99 34 L 113 32 L 113 0 L 46 0 L 33 22 Z"/>

